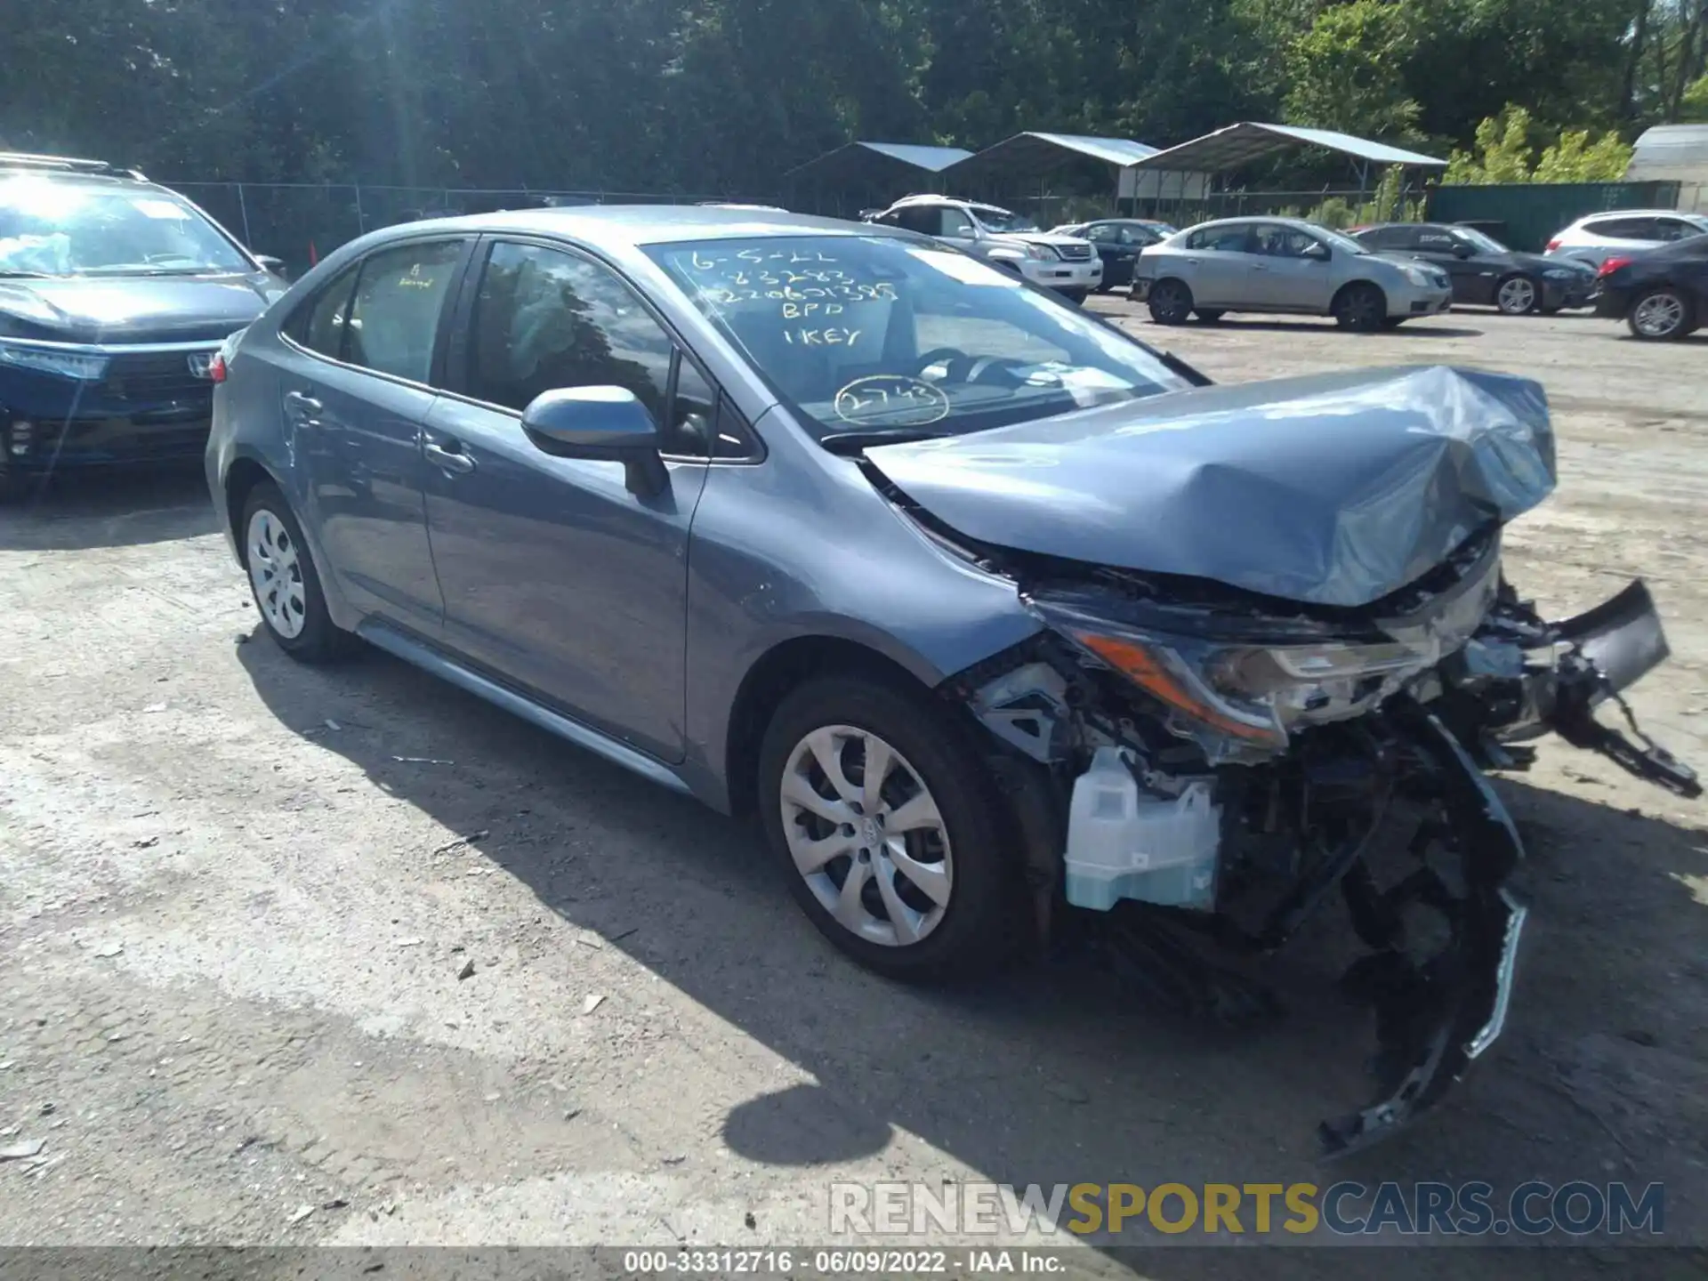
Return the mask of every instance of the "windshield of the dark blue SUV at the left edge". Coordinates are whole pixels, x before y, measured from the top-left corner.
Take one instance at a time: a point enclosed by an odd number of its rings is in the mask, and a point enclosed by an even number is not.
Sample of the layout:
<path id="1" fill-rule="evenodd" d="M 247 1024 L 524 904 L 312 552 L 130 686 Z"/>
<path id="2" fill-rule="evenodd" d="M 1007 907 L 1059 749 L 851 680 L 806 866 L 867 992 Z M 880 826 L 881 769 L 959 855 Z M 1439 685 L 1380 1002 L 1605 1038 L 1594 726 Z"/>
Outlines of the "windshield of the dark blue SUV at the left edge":
<path id="1" fill-rule="evenodd" d="M 253 272 L 214 224 L 154 188 L 0 181 L 0 275 Z"/>

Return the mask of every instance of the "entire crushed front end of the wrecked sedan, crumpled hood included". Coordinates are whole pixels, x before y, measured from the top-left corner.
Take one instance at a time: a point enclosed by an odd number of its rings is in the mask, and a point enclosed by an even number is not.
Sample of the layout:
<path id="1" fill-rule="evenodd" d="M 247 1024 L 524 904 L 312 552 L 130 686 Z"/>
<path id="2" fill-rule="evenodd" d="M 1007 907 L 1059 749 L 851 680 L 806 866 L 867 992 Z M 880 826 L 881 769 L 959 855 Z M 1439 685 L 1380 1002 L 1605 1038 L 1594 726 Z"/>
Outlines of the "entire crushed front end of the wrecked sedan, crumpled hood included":
<path id="1" fill-rule="evenodd" d="M 1342 900 L 1377 1088 L 1322 1122 L 1327 1156 L 1397 1131 L 1501 1032 L 1524 845 L 1486 770 L 1556 733 L 1701 794 L 1621 699 L 1667 658 L 1648 589 L 1556 623 L 1503 574 L 1503 528 L 1556 482 L 1532 381 L 1206 386 L 866 466 L 1040 623 L 945 693 L 992 736 L 1047 938 L 1243 1020 L 1272 997 L 1242 968 Z"/>

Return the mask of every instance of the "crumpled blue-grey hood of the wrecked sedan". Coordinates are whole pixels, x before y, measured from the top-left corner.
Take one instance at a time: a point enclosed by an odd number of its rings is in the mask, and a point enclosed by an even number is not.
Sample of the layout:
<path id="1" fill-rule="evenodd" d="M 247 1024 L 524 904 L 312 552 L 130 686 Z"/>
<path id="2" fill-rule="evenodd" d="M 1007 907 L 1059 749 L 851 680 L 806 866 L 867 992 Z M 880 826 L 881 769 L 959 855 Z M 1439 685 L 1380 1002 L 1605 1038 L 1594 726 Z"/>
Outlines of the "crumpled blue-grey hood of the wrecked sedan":
<path id="1" fill-rule="evenodd" d="M 866 451 L 980 543 L 1361 606 L 1554 488 L 1541 384 L 1443 366 L 1175 391 Z"/>

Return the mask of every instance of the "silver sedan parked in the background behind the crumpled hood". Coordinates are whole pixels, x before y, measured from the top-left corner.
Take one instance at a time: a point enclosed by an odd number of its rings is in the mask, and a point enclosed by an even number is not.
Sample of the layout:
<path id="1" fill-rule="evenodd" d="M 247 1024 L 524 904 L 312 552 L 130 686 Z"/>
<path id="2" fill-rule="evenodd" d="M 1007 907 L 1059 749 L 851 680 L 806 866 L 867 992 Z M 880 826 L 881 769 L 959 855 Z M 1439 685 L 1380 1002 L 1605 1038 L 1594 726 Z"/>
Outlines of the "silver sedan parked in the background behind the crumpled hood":
<path id="1" fill-rule="evenodd" d="M 1301 219 L 1221 219 L 1175 232 L 1139 254 L 1129 297 L 1158 325 L 1228 311 L 1334 316 L 1348 330 L 1394 328 L 1454 306 L 1438 266 L 1372 253 Z"/>

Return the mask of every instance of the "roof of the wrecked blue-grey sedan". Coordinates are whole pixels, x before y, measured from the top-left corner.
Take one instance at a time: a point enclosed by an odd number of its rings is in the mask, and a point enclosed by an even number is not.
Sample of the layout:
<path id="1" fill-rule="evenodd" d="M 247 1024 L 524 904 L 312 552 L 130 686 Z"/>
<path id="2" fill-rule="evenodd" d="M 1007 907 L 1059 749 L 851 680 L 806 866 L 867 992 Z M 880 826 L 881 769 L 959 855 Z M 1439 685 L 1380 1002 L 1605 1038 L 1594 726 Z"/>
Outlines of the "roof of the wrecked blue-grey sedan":
<path id="1" fill-rule="evenodd" d="M 535 232 L 570 236 L 603 244 L 675 244 L 681 241 L 740 239 L 748 236 L 895 236 L 869 222 L 820 219 L 810 214 L 711 205 L 572 205 L 466 214 L 400 224 L 391 231 Z"/>

